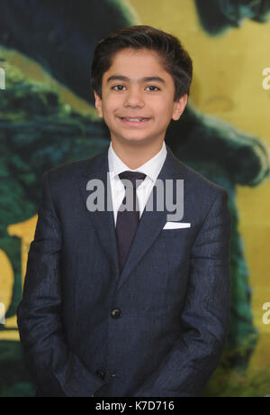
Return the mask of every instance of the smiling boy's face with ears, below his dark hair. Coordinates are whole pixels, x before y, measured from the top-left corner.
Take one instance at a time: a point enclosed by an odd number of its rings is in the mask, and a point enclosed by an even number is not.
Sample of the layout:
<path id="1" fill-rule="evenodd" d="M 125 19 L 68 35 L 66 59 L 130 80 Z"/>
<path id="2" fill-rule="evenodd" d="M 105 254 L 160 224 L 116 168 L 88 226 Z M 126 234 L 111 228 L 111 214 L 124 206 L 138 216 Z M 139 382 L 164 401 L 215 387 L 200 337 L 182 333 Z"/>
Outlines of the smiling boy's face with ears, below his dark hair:
<path id="1" fill-rule="evenodd" d="M 124 49 L 104 73 L 102 99 L 94 92 L 98 115 L 112 141 L 151 143 L 165 138 L 171 119 L 184 112 L 187 96 L 174 102 L 175 83 L 156 52 Z"/>

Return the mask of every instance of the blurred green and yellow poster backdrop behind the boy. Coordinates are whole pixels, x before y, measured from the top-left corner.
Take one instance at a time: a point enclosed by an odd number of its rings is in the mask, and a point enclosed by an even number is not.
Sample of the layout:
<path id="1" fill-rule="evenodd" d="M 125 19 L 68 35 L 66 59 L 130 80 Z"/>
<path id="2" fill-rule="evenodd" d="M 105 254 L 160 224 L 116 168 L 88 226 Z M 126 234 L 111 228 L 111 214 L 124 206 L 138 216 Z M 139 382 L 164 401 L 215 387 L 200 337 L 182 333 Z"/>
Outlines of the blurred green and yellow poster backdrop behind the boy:
<path id="1" fill-rule="evenodd" d="M 109 143 L 90 88 L 94 46 L 133 24 L 171 32 L 190 52 L 190 102 L 170 125 L 166 143 L 179 160 L 229 192 L 229 338 L 203 394 L 270 394 L 270 1 L 9 0 L 1 2 L 0 14 L 2 397 L 34 394 L 16 308 L 41 175 Z"/>

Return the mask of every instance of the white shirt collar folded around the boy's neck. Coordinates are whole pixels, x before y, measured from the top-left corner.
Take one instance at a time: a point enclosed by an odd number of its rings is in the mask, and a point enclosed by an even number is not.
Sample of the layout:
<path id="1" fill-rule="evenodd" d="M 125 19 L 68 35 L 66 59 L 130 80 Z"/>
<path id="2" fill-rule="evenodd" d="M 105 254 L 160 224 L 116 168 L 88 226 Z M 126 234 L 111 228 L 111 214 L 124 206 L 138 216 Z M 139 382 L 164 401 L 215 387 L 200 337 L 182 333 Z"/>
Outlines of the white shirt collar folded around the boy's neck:
<path id="1" fill-rule="evenodd" d="M 139 171 L 148 176 L 152 181 L 156 181 L 159 172 L 162 169 L 164 161 L 166 159 L 166 144 L 163 142 L 162 148 L 157 154 L 152 157 L 150 160 L 139 166 L 137 169 L 130 169 L 121 159 L 118 157 L 116 152 L 112 148 L 112 142 L 108 150 L 108 161 L 109 161 L 109 171 L 111 176 L 114 178 L 122 171 Z"/>

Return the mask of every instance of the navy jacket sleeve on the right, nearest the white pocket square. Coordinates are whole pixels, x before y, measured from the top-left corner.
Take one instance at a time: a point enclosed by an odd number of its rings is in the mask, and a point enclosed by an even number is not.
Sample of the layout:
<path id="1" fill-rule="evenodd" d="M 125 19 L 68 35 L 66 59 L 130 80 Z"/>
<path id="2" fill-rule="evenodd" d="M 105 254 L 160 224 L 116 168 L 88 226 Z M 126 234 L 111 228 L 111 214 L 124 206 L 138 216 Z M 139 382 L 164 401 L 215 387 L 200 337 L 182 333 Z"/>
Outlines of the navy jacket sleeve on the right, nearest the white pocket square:
<path id="1" fill-rule="evenodd" d="M 228 193 L 221 189 L 191 252 L 182 336 L 133 396 L 200 396 L 220 362 L 229 331 Z"/>

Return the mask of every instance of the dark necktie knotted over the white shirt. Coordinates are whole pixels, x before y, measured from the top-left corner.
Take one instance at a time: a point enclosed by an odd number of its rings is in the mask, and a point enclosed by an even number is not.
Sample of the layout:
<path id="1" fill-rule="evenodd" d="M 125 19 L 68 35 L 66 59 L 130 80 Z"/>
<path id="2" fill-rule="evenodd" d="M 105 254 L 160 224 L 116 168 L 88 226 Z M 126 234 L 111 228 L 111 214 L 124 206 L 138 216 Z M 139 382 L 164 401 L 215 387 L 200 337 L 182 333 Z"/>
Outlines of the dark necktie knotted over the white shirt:
<path id="1" fill-rule="evenodd" d="M 129 194 L 127 190 L 129 189 L 129 183 L 123 182 L 126 189 L 125 197 L 122 200 L 121 207 L 117 214 L 116 219 L 116 240 L 118 246 L 118 257 L 119 257 L 119 266 L 120 272 L 123 268 L 127 255 L 130 251 L 130 245 L 136 234 L 137 227 L 139 225 L 139 210 L 136 210 L 136 204 L 139 208 L 139 200 L 137 197 L 136 189 L 139 188 L 141 181 L 136 180 L 145 180 L 146 174 L 139 173 L 139 171 L 123 171 L 119 174 L 121 180 L 130 180 L 132 184 L 133 191 L 133 208 L 132 210 L 122 210 L 121 208 L 126 206 L 126 196 Z"/>

